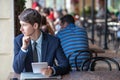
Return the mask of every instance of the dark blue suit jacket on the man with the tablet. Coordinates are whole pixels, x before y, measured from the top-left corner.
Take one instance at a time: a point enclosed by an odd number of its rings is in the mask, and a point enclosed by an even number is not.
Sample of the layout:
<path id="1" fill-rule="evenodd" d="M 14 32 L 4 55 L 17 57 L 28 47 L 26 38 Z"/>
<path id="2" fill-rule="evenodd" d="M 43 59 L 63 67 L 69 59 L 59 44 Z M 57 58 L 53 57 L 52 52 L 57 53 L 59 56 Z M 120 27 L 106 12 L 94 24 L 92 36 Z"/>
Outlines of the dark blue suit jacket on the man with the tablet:
<path id="1" fill-rule="evenodd" d="M 33 62 L 33 53 L 31 44 L 28 47 L 28 52 L 24 53 L 21 50 L 23 34 L 18 35 L 14 39 L 14 62 L 13 69 L 16 73 L 32 72 L 31 63 Z M 42 62 L 48 62 L 49 66 L 54 67 L 56 74 L 63 75 L 69 72 L 70 66 L 68 59 L 65 57 L 58 38 L 49 34 L 43 33 L 42 38 Z M 55 66 L 54 60 L 58 61 L 58 66 Z"/>

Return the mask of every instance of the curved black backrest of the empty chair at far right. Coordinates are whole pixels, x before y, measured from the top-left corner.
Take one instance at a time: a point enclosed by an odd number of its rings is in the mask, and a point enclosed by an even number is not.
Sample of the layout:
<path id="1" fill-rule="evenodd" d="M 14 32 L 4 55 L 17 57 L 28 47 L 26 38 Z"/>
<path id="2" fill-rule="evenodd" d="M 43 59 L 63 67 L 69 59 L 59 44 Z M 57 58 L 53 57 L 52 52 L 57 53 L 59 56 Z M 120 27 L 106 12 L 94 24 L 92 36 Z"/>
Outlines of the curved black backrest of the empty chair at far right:
<path id="1" fill-rule="evenodd" d="M 119 63 L 116 60 L 114 60 L 113 58 L 109 58 L 109 57 L 92 57 L 92 58 L 89 58 L 82 63 L 81 71 L 84 70 L 84 66 L 87 62 L 90 62 L 90 65 L 88 66 L 88 70 L 95 71 L 97 61 L 105 62 L 109 66 L 110 71 L 113 70 L 112 63 L 114 63 L 116 65 L 117 70 L 120 71 Z"/>

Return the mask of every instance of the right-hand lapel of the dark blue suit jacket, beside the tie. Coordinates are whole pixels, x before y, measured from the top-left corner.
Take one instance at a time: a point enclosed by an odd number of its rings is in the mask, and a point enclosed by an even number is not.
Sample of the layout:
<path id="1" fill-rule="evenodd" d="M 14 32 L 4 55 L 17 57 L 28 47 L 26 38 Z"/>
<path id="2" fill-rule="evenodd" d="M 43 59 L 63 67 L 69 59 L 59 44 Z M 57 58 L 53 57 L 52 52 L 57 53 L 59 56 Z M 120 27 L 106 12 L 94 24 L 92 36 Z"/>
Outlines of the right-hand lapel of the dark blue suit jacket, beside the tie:
<path id="1" fill-rule="evenodd" d="M 46 54 L 47 54 L 47 46 L 48 45 L 48 40 L 47 40 L 47 34 L 43 33 L 42 37 L 42 48 L 41 48 L 41 55 L 42 55 L 42 62 L 44 62 L 46 59 Z"/>

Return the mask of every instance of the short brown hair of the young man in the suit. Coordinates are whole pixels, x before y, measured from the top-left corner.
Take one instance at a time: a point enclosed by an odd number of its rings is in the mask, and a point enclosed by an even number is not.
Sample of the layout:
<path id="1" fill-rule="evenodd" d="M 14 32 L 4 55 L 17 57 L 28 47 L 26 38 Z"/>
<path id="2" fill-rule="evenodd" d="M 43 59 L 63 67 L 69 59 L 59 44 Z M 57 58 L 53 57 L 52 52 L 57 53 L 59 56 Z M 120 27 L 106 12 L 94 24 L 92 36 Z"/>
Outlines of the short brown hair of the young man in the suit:
<path id="1" fill-rule="evenodd" d="M 40 27 L 41 24 L 41 15 L 38 11 L 28 8 L 25 9 L 19 16 L 19 20 L 30 23 L 31 25 L 34 25 L 34 23 L 38 23 L 38 26 Z"/>

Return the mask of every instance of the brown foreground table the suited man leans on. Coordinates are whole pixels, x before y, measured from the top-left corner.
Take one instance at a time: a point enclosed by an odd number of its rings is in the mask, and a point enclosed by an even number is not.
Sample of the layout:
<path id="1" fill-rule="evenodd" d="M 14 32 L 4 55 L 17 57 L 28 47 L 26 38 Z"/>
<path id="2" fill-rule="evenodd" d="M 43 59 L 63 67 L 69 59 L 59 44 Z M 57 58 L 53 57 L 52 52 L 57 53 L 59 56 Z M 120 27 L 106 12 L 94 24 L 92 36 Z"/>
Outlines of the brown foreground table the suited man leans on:
<path id="1" fill-rule="evenodd" d="M 18 78 L 19 80 L 20 75 L 11 72 L 7 80 L 10 80 L 10 78 Z M 120 71 L 72 71 L 62 76 L 62 79 L 59 80 L 120 80 Z"/>

